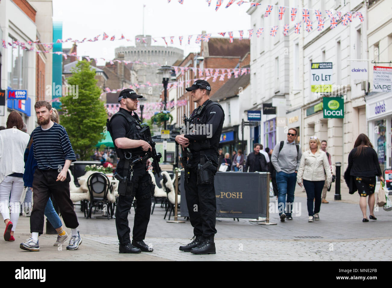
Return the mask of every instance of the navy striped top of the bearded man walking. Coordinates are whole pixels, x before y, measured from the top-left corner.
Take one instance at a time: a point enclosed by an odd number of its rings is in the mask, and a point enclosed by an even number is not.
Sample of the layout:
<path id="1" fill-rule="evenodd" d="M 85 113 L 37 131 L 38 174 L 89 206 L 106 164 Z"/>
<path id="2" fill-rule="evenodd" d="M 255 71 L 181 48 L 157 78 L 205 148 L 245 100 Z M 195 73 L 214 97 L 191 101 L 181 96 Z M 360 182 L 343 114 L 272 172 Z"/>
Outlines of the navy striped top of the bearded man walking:
<path id="1" fill-rule="evenodd" d="M 38 169 L 58 169 L 64 167 L 65 160 L 76 161 L 67 131 L 61 125 L 54 123 L 47 130 L 42 130 L 41 126 L 38 126 L 31 135 Z"/>

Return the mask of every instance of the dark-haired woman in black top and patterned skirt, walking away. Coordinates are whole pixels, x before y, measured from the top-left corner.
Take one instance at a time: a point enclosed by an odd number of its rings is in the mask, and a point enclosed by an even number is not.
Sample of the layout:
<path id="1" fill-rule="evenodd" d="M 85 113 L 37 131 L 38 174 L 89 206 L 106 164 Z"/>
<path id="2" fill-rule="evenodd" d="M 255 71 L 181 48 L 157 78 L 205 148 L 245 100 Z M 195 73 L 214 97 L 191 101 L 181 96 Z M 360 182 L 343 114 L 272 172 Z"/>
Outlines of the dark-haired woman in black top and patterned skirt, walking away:
<path id="1" fill-rule="evenodd" d="M 363 219 L 362 222 L 368 222 L 366 216 L 366 197 L 369 196 L 368 205 L 370 210 L 370 219 L 377 220 L 374 217 L 374 190 L 376 188 L 376 176 L 379 176 L 381 181 L 384 182 L 380 164 L 376 151 L 369 138 L 365 134 L 359 134 L 354 143 L 354 149 L 348 155 L 348 167 L 345 173 L 345 179 L 349 175 L 352 178 L 352 193 L 358 189 L 359 206 L 361 207 Z M 347 180 L 346 180 L 347 181 Z M 356 188 L 355 188 L 356 187 Z"/>

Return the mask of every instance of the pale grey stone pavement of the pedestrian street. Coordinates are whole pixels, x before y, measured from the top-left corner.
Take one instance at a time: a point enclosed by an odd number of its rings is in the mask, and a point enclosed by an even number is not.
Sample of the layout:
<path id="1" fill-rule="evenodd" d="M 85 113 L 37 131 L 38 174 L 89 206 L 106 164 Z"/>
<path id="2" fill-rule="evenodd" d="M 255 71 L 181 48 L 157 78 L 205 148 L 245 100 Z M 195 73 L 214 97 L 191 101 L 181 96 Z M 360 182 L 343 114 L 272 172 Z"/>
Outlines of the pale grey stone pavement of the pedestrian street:
<path id="1" fill-rule="evenodd" d="M 292 221 L 280 222 L 278 214 L 271 214 L 271 222 L 277 225 L 258 225 L 249 219 L 233 221 L 219 218 L 215 236 L 215 255 L 193 255 L 181 252 L 178 246 L 189 243 L 192 227 L 186 223 L 167 223 L 165 211 L 155 207 L 151 216 L 145 242 L 152 245 L 154 252 L 142 254 L 118 254 L 118 239 L 114 219 L 84 219 L 77 212 L 80 223 L 82 245 L 77 251 L 67 251 L 54 247 L 56 235 L 40 236 L 40 252 L 27 252 L 19 244 L 31 237 L 29 218 L 19 219 L 15 242 L 0 241 L 1 260 L 19 261 L 263 261 L 263 260 L 314 260 L 314 261 L 388 261 L 392 259 L 392 212 L 380 209 L 375 212 L 377 221 L 363 223 L 361 210 L 357 204 L 330 201 L 321 205 L 320 221 L 307 222 L 306 198 L 296 193 L 296 205 L 300 215 L 293 214 Z M 301 195 L 301 196 L 298 196 Z M 305 194 L 305 193 L 303 193 Z M 358 195 L 357 195 L 358 196 Z M 359 196 L 358 196 L 359 197 Z M 271 199 L 272 205 L 275 199 Z M 78 209 L 78 208 L 76 208 Z M 100 213 L 97 212 L 95 216 Z M 134 210 L 129 215 L 132 228 Z M 93 215 L 94 217 L 94 215 Z M 183 217 L 179 217 L 180 220 Z M 67 228 L 68 233 L 71 232 Z M 132 229 L 131 229 L 132 231 Z M 377 244 L 386 250 L 380 252 Z M 67 243 L 65 243 L 67 244 Z"/>

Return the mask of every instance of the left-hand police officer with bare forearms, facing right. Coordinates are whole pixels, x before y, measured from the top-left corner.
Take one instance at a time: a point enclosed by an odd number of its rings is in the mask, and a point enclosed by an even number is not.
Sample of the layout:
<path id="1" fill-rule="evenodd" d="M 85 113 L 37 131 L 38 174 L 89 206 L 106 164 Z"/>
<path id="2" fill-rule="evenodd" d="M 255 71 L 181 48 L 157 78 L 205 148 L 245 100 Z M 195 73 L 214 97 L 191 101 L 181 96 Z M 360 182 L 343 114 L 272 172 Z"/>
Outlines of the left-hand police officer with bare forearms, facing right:
<path id="1" fill-rule="evenodd" d="M 138 108 L 138 98 L 142 97 L 132 89 L 121 91 L 118 97 L 118 102 L 121 105 L 120 110 L 112 116 L 109 125 L 107 125 L 117 156 L 120 158 L 115 172 L 116 179 L 120 180 L 116 208 L 116 228 L 120 242 L 120 253 L 152 252 L 152 248 L 143 241 L 150 220 L 151 197 L 154 195 L 154 185 L 147 171 L 147 166 L 150 167 L 151 161 L 132 163 L 138 156 L 143 157 L 146 151 L 152 150 L 149 143 L 141 140 L 140 118 L 135 112 L 132 114 L 132 111 Z M 127 181 L 121 181 L 123 177 L 126 177 Z M 137 203 L 131 243 L 128 214 L 134 197 L 136 197 Z"/>

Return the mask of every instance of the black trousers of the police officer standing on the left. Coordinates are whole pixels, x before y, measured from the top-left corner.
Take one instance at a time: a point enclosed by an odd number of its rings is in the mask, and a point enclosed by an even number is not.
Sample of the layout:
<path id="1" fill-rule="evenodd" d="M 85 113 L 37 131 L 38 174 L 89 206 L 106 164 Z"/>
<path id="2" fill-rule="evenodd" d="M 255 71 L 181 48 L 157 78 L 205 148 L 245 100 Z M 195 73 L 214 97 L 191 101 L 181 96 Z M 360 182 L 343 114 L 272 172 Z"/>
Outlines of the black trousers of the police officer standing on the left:
<path id="1" fill-rule="evenodd" d="M 131 209 L 134 197 L 136 197 L 137 203 L 133 222 L 132 239 L 135 241 L 144 240 L 147 232 L 147 225 L 150 221 L 152 187 L 151 176 L 146 171 L 144 165 L 137 165 L 137 167 L 134 166 L 133 169 L 134 172 L 131 182 L 138 184 L 138 187 L 134 188 L 136 195 L 118 196 L 118 203 L 116 208 L 117 236 L 118 241 L 120 241 L 120 244 L 122 245 L 131 243 L 131 238 L 129 236 L 131 229 L 129 228 L 128 214 L 129 209 Z"/>

